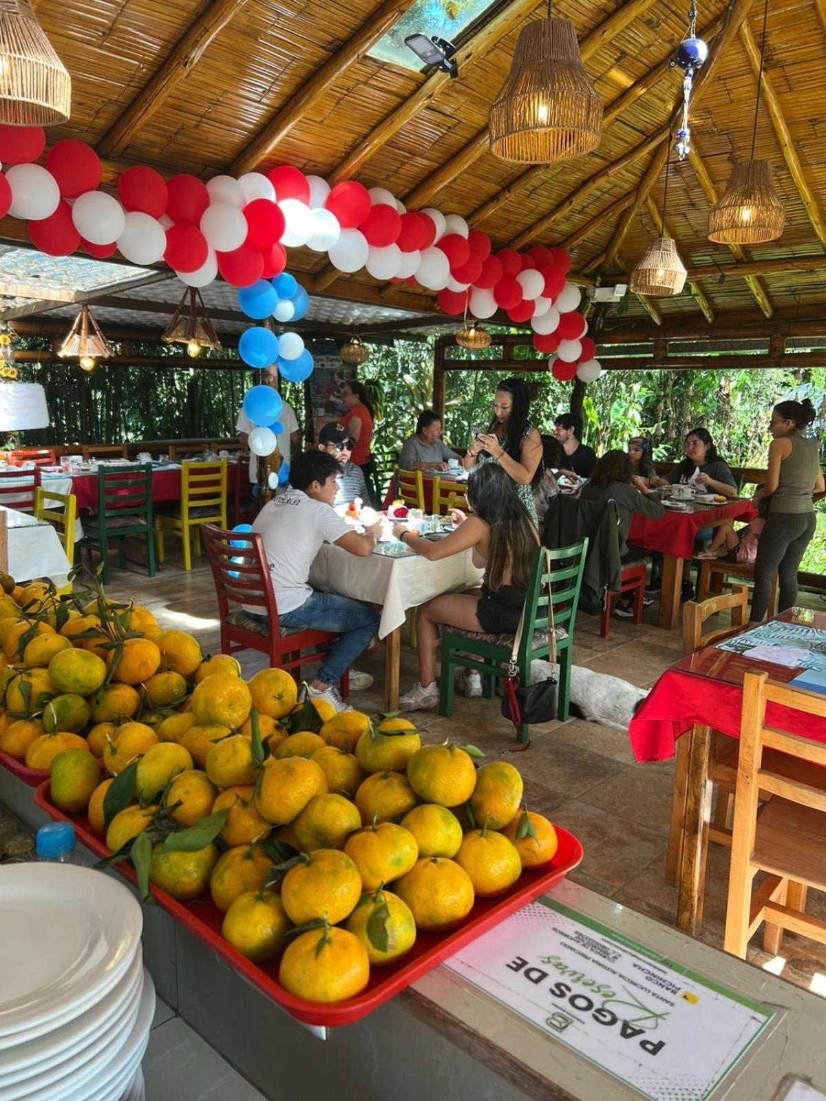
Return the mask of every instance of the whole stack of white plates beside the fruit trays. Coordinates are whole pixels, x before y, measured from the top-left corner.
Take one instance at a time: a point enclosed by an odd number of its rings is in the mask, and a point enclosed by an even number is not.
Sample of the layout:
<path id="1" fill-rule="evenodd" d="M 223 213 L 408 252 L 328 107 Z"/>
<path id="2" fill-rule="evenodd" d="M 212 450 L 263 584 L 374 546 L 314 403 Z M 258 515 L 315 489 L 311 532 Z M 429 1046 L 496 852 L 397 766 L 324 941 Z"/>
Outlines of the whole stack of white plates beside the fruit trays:
<path id="1" fill-rule="evenodd" d="M 67 864 L 0 868 L 0 1098 L 138 1101 L 155 991 L 141 907 Z"/>

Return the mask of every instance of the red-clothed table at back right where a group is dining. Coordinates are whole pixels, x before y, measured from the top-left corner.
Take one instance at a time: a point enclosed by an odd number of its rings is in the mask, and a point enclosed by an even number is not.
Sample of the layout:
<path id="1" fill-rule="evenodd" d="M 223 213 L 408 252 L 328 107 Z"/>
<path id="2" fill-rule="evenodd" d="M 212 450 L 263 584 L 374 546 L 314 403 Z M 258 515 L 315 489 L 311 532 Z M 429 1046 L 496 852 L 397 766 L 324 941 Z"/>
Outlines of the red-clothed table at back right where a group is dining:
<path id="1" fill-rule="evenodd" d="M 683 566 L 694 557 L 694 542 L 698 533 L 731 520 L 747 523 L 756 515 L 756 510 L 745 498 L 721 504 L 704 504 L 696 500 L 664 503 L 666 512 L 659 520 L 632 514 L 628 542 L 663 556 L 659 623 L 662 628 L 672 629 L 680 620 Z"/>

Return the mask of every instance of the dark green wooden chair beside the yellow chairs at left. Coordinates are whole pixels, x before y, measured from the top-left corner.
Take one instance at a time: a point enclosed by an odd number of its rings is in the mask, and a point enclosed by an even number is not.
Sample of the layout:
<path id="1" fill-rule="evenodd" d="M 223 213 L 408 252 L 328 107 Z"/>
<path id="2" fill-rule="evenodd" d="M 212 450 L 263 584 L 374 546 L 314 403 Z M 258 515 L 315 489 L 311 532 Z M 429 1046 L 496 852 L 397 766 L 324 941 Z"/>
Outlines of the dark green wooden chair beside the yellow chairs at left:
<path id="1" fill-rule="evenodd" d="M 97 549 L 104 564 L 102 581 L 109 584 L 109 541 L 118 539 L 118 567 L 127 568 L 127 539 L 145 538 L 146 573 L 155 576 L 155 539 L 152 516 L 152 464 L 98 469 L 98 513 L 89 523 L 86 546 Z"/>

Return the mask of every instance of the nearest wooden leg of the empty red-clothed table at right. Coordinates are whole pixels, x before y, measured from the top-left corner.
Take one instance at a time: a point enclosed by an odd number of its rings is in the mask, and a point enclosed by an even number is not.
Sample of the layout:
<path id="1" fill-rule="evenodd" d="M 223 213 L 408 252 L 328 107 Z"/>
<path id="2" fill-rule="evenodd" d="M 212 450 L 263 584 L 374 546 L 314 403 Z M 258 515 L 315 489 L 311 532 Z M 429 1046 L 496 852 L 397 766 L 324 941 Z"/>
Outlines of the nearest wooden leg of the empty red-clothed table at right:
<path id="1" fill-rule="evenodd" d="M 711 787 L 708 782 L 708 760 L 711 731 L 708 727 L 692 727 L 688 750 L 688 782 L 685 792 L 683 822 L 683 860 L 680 869 L 677 927 L 695 936 L 703 924 L 703 894 L 706 885 L 708 852 L 708 818 Z"/>

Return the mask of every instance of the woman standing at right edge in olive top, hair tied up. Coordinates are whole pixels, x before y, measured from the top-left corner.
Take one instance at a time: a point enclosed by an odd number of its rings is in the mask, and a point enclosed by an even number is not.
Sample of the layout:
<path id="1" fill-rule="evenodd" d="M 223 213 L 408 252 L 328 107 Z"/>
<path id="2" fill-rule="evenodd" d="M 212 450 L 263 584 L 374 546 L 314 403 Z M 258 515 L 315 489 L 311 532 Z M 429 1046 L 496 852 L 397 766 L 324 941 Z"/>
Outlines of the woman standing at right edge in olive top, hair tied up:
<path id="1" fill-rule="evenodd" d="M 816 526 L 812 495 L 824 490 L 817 442 L 802 435 L 814 418 L 808 399 L 780 402 L 772 410 L 769 469 L 762 489 L 754 494 L 756 501 L 769 499 L 769 515 L 758 543 L 750 623 L 761 623 L 765 615 L 775 570 L 779 610 L 792 608 L 797 599 L 797 569 Z"/>

